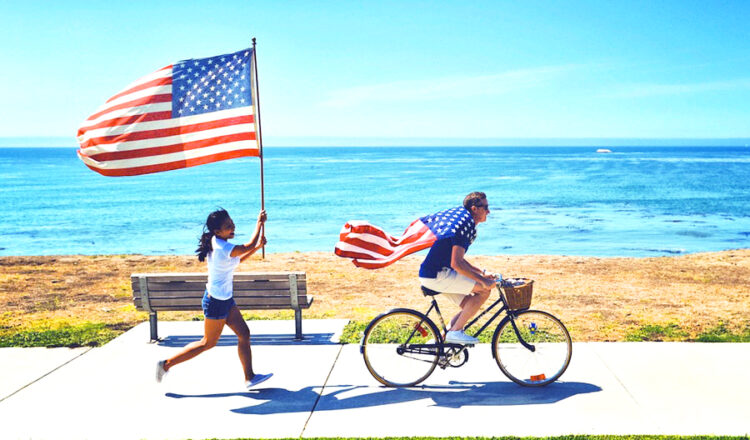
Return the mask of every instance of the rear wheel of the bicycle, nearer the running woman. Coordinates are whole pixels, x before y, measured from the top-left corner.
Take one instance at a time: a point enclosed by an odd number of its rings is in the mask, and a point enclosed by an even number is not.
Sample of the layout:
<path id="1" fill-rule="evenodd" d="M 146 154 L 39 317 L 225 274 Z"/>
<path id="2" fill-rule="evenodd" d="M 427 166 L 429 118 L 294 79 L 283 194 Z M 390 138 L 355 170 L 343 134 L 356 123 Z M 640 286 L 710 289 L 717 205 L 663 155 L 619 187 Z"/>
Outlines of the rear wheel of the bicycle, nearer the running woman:
<path id="1" fill-rule="evenodd" d="M 370 374 L 390 387 L 414 386 L 432 374 L 438 362 L 440 336 L 425 315 L 396 309 L 373 319 L 362 339 Z"/>

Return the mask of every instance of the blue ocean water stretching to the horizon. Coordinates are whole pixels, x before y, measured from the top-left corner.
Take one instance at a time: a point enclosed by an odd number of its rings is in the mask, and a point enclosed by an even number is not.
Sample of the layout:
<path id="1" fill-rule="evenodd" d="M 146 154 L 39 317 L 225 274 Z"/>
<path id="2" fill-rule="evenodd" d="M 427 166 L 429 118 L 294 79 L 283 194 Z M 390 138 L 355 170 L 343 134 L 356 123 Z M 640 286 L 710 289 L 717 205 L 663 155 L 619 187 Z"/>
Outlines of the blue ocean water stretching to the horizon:
<path id="1" fill-rule="evenodd" d="M 267 147 L 267 252 L 332 252 L 341 226 L 399 235 L 488 195 L 469 255 L 660 256 L 750 247 L 750 148 Z M 72 148 L 0 148 L 0 255 L 191 254 L 226 208 L 247 240 L 258 158 L 103 177 Z M 425 251 L 422 251 L 423 253 Z"/>

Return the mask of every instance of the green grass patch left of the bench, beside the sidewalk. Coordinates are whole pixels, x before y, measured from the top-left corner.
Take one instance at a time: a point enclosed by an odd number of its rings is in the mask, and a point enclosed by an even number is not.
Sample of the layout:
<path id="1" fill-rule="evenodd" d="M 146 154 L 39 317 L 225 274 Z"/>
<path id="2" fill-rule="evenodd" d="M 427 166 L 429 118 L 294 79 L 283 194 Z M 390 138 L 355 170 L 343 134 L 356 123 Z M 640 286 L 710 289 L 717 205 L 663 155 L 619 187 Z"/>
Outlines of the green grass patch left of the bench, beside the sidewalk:
<path id="1" fill-rule="evenodd" d="M 0 331 L 0 347 L 98 347 L 124 331 L 118 325 L 92 322 L 14 332 Z"/>

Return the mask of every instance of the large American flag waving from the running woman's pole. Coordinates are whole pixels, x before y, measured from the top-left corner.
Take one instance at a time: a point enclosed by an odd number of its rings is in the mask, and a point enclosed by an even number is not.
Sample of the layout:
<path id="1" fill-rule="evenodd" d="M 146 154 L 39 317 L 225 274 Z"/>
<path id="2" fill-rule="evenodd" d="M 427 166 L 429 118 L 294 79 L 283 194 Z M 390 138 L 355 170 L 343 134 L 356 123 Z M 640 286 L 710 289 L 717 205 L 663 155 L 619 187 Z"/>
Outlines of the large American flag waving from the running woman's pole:
<path id="1" fill-rule="evenodd" d="M 111 97 L 78 130 L 78 157 L 134 176 L 259 156 L 253 50 L 183 60 Z"/>

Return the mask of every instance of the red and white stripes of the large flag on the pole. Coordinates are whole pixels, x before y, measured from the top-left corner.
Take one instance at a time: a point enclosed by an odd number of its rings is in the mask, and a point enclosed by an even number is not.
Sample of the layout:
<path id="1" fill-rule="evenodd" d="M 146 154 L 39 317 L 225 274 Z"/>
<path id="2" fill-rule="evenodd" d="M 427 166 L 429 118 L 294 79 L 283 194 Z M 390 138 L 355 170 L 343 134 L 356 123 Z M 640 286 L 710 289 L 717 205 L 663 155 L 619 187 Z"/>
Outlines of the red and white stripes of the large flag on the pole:
<path id="1" fill-rule="evenodd" d="M 175 116 L 173 82 L 172 65 L 159 69 L 84 121 L 78 156 L 86 166 L 105 176 L 133 176 L 260 155 L 252 98 L 241 107 Z"/>

